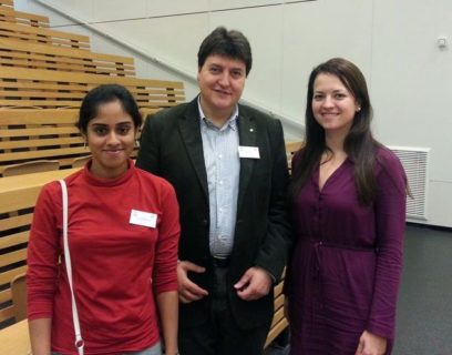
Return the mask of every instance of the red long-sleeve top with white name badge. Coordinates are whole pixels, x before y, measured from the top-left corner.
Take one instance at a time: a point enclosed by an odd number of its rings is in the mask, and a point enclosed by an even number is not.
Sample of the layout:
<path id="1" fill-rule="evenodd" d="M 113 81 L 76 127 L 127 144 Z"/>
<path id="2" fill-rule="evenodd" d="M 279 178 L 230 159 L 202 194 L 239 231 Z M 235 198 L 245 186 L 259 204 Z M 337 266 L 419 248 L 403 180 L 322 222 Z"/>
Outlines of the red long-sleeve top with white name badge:
<path id="1" fill-rule="evenodd" d="M 132 161 L 119 179 L 97 179 L 85 168 L 65 182 L 85 353 L 115 354 L 156 344 L 155 295 L 177 290 L 179 223 L 173 187 Z M 155 227 L 131 223 L 132 210 L 155 214 Z M 76 354 L 58 182 L 47 184 L 38 199 L 28 265 L 29 320 L 52 318 L 52 351 Z"/>

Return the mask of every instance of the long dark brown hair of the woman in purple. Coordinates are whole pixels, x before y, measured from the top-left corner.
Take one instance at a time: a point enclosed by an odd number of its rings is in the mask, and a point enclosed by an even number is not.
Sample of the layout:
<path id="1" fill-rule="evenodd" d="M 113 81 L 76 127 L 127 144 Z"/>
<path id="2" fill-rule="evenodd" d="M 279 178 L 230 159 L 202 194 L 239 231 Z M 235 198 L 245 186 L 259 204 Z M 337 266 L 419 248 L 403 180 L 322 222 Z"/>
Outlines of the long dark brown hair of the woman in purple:
<path id="1" fill-rule="evenodd" d="M 298 164 L 292 171 L 291 194 L 295 195 L 311 176 L 320 163 L 321 155 L 329 148 L 325 141 L 325 130 L 316 121 L 312 112 L 314 82 L 319 74 L 337 77 L 353 95 L 361 110 L 356 112 L 352 125 L 343 142 L 348 158 L 355 163 L 355 184 L 361 204 L 370 205 L 377 196 L 373 166 L 376 148 L 380 145 L 371 133 L 372 106 L 366 79 L 357 65 L 342 58 L 333 58 L 312 70 L 308 82 L 306 101 L 305 145 L 296 155 Z"/>

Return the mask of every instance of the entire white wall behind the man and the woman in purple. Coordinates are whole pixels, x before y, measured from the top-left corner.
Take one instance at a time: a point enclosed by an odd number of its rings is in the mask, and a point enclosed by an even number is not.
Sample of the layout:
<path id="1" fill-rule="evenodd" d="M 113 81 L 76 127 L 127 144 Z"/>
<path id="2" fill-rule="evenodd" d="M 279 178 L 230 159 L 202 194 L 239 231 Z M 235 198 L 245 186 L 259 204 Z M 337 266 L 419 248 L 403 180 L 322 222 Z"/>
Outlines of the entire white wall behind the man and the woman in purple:
<path id="1" fill-rule="evenodd" d="M 255 59 L 244 99 L 280 116 L 289 140 L 301 138 L 312 67 L 350 59 L 368 79 L 376 136 L 431 149 L 423 222 L 452 227 L 452 50 L 436 47 L 439 36 L 452 45 L 452 1 L 16 0 L 16 8 L 49 16 L 59 30 L 90 34 L 94 51 L 133 55 L 142 78 L 183 80 L 187 100 L 197 93 L 204 37 L 220 24 L 242 30 Z"/>

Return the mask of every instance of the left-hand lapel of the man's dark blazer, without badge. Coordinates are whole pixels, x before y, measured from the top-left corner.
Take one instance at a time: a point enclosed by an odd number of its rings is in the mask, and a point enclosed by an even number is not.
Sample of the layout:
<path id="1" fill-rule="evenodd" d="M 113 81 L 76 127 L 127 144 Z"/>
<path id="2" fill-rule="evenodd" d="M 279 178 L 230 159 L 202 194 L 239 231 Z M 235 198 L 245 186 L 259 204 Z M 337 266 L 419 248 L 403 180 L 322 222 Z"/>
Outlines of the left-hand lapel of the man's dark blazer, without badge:
<path id="1" fill-rule="evenodd" d="M 178 122 L 178 129 L 193 168 L 208 201 L 207 172 L 204 163 L 203 139 L 201 136 L 197 98 L 188 104 L 184 116 L 181 118 Z"/>

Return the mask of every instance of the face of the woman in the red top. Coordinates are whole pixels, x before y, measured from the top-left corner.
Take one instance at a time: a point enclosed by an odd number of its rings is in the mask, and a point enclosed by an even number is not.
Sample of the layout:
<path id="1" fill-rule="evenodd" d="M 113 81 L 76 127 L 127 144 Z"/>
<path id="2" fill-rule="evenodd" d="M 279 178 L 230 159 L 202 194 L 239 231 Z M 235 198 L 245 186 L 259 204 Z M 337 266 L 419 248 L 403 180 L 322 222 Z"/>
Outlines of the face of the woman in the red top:
<path id="1" fill-rule="evenodd" d="M 135 125 L 120 101 L 100 104 L 97 115 L 90 120 L 83 136 L 93 155 L 91 172 L 95 176 L 113 179 L 127 171 Z"/>

